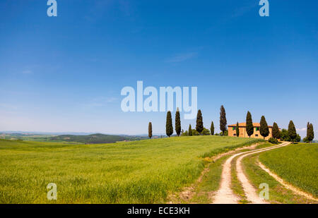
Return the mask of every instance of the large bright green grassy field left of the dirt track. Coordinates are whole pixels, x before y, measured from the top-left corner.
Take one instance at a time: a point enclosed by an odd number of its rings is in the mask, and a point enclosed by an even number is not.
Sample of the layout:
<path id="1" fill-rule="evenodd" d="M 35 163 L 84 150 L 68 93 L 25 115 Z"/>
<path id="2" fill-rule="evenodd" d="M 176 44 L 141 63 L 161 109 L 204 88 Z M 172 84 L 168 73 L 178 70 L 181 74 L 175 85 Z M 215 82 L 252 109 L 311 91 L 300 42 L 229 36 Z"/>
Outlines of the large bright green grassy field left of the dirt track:
<path id="1" fill-rule="evenodd" d="M 192 136 L 105 145 L 0 140 L 1 203 L 153 203 L 194 182 L 204 157 L 257 140 Z M 57 200 L 47 200 L 47 184 Z"/>

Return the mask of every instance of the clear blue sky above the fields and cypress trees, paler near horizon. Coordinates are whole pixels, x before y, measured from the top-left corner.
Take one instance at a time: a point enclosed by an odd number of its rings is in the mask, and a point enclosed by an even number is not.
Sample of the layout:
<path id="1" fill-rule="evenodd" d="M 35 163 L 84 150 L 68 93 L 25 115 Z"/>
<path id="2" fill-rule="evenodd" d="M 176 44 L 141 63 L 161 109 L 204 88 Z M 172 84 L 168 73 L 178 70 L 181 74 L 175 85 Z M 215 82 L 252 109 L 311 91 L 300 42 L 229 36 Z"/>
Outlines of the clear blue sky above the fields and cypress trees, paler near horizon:
<path id="1" fill-rule="evenodd" d="M 46 3 L 0 2 L 0 131 L 165 133 L 165 113 L 121 110 L 137 80 L 198 87 L 218 132 L 221 104 L 228 124 L 318 129 L 317 1 L 269 0 L 269 17 L 257 0 Z"/>

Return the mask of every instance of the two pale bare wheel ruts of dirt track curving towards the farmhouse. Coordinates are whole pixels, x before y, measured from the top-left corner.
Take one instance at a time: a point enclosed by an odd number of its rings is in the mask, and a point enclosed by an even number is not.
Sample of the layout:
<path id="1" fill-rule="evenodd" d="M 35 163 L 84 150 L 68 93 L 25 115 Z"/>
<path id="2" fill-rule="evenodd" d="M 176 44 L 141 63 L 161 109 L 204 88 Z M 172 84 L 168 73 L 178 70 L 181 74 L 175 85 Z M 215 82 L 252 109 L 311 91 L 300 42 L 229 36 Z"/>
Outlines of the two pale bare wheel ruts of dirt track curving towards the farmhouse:
<path id="1" fill-rule="evenodd" d="M 289 143 L 282 143 L 281 145 L 275 145 L 275 146 L 261 148 L 261 149 L 253 150 L 253 151 L 241 152 L 229 157 L 225 161 L 225 164 L 223 164 L 220 188 L 214 197 L 213 203 L 214 204 L 237 204 L 238 203 L 239 199 L 232 192 L 232 189 L 230 186 L 231 186 L 231 162 L 232 162 L 232 159 L 240 155 L 242 156 L 240 156 L 236 162 L 237 178 L 242 183 L 242 187 L 245 191 L 245 195 L 247 196 L 247 200 L 249 200 L 252 203 L 259 203 L 259 204 L 267 203 L 265 200 L 262 200 L 261 198 L 259 198 L 256 190 L 254 189 L 252 184 L 249 183 L 247 176 L 245 176 L 244 171 L 242 170 L 242 159 L 244 157 L 247 157 L 248 155 L 264 152 L 266 150 L 276 149 L 278 147 L 283 147 L 286 145 L 289 145 Z"/>

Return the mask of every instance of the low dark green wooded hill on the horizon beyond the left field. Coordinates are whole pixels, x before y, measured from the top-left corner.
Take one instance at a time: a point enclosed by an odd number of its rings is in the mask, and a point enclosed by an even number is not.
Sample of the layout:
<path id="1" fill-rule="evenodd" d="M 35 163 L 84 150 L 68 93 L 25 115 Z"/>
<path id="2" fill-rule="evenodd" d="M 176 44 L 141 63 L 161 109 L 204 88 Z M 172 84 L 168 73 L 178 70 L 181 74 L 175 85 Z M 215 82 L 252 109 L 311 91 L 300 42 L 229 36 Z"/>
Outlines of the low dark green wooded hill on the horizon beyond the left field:
<path id="1" fill-rule="evenodd" d="M 98 143 L 116 143 L 118 141 L 131 140 L 129 137 L 121 135 L 58 135 L 49 139 L 50 141 L 63 141 L 84 144 L 98 144 Z"/>

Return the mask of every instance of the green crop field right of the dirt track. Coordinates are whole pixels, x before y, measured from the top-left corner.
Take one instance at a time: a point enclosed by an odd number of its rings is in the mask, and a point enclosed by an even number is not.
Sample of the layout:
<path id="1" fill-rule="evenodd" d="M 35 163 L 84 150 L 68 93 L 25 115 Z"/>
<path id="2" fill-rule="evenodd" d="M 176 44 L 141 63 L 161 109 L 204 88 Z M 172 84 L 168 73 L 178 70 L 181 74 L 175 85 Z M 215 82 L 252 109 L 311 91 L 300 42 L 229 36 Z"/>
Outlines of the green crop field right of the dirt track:
<path id="1" fill-rule="evenodd" d="M 270 150 L 259 160 L 289 183 L 318 197 L 318 144 L 295 144 Z"/>

